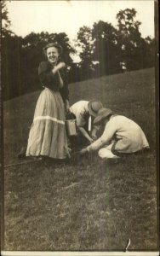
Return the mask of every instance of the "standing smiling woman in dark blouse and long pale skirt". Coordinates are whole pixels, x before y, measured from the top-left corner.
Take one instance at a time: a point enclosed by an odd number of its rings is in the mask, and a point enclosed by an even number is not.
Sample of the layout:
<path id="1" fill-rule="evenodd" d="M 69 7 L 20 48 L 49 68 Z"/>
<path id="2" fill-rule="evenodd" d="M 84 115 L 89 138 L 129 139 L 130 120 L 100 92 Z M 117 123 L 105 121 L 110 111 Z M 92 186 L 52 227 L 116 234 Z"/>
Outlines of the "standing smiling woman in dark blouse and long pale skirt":
<path id="1" fill-rule="evenodd" d="M 66 139 L 66 111 L 69 110 L 66 64 L 60 61 L 62 49 L 51 43 L 44 48 L 48 61 L 38 67 L 43 85 L 29 133 L 26 156 L 48 156 L 66 159 L 69 150 Z"/>

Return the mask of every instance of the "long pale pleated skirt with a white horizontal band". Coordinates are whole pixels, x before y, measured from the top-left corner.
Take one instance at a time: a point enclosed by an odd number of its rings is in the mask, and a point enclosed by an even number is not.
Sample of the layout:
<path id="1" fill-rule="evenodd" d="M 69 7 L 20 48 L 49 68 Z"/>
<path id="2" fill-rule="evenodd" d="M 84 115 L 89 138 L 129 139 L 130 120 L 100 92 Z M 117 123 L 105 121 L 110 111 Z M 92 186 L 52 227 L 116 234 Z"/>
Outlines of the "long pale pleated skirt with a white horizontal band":
<path id="1" fill-rule="evenodd" d="M 26 156 L 65 159 L 69 155 L 65 119 L 60 92 L 45 88 L 37 100 Z"/>

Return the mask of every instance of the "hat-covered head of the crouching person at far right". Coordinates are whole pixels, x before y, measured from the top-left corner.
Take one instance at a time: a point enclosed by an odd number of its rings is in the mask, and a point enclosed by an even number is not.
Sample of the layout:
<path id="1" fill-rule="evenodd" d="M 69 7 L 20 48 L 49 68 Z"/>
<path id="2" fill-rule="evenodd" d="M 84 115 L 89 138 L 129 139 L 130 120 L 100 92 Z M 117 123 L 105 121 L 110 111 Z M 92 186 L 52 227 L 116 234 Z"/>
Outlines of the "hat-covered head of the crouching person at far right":
<path id="1" fill-rule="evenodd" d="M 94 119 L 94 125 L 106 125 L 112 114 L 110 108 L 100 108 L 97 117 Z"/>

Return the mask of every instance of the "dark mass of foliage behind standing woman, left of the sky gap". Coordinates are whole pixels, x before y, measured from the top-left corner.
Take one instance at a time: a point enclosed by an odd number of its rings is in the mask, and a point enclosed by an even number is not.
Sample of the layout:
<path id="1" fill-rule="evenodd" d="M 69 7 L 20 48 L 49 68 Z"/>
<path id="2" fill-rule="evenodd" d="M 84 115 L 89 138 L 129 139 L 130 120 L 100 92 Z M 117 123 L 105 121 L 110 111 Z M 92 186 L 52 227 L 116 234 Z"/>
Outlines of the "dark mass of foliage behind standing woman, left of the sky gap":
<path id="1" fill-rule="evenodd" d="M 45 60 L 43 47 L 53 41 L 63 47 L 62 59 L 70 66 L 70 53 L 74 49 L 71 48 L 66 33 L 31 32 L 25 38 L 9 34 L 2 38 L 4 100 L 40 88 L 37 67 L 40 61 Z"/>

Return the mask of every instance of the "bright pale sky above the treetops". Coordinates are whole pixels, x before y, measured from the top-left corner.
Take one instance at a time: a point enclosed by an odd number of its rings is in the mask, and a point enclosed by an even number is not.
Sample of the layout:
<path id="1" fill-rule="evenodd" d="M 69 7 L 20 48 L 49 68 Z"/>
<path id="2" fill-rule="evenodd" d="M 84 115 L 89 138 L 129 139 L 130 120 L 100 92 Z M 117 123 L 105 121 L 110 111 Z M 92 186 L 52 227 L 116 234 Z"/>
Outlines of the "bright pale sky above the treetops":
<path id="1" fill-rule="evenodd" d="M 154 37 L 153 0 L 8 1 L 7 7 L 11 30 L 22 37 L 31 32 L 66 32 L 72 41 L 81 26 L 91 27 L 99 20 L 116 26 L 118 11 L 126 8 L 134 8 L 138 12 L 142 37 Z"/>

